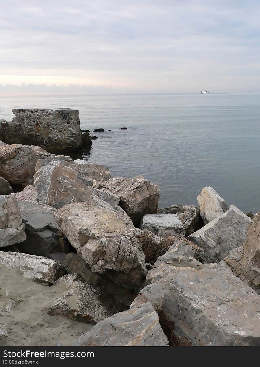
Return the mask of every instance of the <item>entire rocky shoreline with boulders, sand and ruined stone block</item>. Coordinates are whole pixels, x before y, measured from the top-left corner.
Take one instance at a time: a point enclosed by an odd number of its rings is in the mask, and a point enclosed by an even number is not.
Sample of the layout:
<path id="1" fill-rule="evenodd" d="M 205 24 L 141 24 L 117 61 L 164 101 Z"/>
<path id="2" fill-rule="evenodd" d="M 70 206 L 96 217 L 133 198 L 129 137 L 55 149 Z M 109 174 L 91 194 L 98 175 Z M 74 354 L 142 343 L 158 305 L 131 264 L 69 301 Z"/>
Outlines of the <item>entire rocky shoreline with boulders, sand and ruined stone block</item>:
<path id="1" fill-rule="evenodd" d="M 158 209 L 142 176 L 52 153 L 87 140 L 77 111 L 13 111 L 0 120 L 0 345 L 260 345 L 259 213 L 211 187 L 198 207 Z"/>

